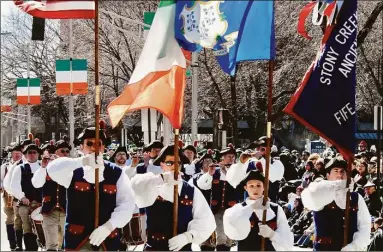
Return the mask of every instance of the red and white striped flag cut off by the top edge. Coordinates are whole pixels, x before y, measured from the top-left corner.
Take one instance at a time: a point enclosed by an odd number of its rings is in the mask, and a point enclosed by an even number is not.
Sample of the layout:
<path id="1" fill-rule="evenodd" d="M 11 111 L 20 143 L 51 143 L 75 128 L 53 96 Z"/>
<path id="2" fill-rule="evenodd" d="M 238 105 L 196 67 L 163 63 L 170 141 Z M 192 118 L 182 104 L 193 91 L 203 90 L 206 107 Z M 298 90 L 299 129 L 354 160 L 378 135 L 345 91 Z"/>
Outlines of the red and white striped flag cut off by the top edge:
<path id="1" fill-rule="evenodd" d="M 14 0 L 15 5 L 31 16 L 48 19 L 94 18 L 94 1 L 47 0 L 26 1 Z"/>

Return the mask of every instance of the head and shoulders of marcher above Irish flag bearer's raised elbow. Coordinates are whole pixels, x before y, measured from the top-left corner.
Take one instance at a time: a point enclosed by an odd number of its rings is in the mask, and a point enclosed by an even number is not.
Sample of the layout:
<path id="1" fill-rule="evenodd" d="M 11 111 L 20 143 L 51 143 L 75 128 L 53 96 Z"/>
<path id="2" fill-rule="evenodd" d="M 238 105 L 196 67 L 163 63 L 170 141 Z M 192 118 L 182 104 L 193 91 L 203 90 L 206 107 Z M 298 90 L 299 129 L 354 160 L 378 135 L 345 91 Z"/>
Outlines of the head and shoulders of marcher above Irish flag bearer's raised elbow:
<path id="1" fill-rule="evenodd" d="M 160 174 L 162 172 L 161 167 L 154 165 L 153 161 L 160 153 L 161 149 L 164 147 L 164 144 L 158 140 L 151 142 L 145 147 L 147 150 L 144 152 L 144 163 L 140 163 L 136 166 L 137 174 L 143 174 L 147 172 L 152 172 L 153 174 Z M 132 164 L 132 167 L 133 164 Z"/>

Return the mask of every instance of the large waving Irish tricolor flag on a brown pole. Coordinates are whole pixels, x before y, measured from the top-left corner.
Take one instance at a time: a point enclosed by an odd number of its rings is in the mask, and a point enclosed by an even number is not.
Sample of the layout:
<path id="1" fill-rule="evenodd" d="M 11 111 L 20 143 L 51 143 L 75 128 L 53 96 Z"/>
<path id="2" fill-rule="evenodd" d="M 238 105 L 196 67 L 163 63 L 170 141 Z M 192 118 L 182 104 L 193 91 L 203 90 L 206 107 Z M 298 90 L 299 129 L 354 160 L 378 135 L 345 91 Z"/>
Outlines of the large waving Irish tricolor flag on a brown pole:
<path id="1" fill-rule="evenodd" d="M 108 106 L 113 127 L 125 113 L 142 108 L 154 108 L 181 127 L 186 62 L 174 38 L 175 10 L 175 1 L 160 2 L 132 77 Z"/>

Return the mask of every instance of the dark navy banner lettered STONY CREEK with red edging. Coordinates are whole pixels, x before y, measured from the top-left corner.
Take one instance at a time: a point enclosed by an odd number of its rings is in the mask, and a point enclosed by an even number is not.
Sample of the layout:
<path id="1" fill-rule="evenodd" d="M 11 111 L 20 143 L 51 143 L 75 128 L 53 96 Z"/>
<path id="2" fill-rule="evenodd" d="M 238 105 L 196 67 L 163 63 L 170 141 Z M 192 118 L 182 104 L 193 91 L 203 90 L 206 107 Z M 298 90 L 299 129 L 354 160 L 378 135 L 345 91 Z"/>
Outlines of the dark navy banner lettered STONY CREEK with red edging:
<path id="1" fill-rule="evenodd" d="M 335 145 L 345 156 L 355 150 L 357 0 L 343 2 L 335 25 L 284 111 Z"/>

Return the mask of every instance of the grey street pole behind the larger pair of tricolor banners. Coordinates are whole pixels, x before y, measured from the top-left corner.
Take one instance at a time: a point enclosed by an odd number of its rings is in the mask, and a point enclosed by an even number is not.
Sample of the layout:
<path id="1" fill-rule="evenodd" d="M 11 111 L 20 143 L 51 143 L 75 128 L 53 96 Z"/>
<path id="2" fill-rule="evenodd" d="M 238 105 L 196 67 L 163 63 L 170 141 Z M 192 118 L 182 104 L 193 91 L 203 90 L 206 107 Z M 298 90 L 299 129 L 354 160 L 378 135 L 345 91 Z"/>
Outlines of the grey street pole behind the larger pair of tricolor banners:
<path id="1" fill-rule="evenodd" d="M 72 146 L 71 155 L 74 157 L 74 97 L 72 83 L 72 58 L 73 58 L 73 20 L 69 19 L 69 64 L 70 64 L 70 94 L 69 94 L 69 143 Z"/>

